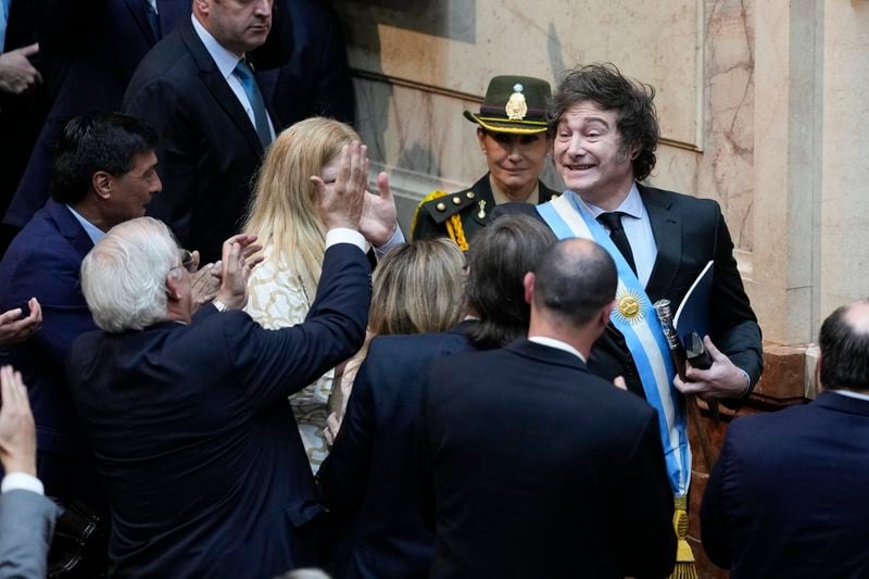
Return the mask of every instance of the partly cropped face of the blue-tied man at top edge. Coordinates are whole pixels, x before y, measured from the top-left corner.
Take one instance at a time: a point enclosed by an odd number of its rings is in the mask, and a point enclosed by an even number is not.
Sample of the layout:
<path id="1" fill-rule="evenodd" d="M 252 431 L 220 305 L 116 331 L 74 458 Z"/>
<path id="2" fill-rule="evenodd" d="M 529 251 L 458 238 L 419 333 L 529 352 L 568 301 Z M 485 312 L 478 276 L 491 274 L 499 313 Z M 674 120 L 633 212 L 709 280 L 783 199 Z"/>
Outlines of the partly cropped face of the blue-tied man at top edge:
<path id="1" fill-rule="evenodd" d="M 241 55 L 265 42 L 273 0 L 196 0 L 197 18 L 230 52 Z"/>

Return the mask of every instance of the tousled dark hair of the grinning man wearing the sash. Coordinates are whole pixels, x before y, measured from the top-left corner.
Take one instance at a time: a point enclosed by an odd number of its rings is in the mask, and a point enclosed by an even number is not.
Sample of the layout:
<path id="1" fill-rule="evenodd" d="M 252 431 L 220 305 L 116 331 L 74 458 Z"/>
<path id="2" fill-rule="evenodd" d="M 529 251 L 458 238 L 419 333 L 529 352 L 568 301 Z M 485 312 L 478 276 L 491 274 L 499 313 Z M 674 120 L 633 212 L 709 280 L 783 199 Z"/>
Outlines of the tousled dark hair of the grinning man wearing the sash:
<path id="1" fill-rule="evenodd" d="M 627 155 L 633 148 L 633 178 L 643 180 L 655 167 L 658 127 L 655 89 L 622 75 L 615 64 L 587 64 L 569 71 L 552 96 L 546 111 L 550 131 L 554 131 L 562 115 L 582 101 L 594 101 L 605 111 L 616 111 L 616 127 L 621 136 L 619 153 Z"/>

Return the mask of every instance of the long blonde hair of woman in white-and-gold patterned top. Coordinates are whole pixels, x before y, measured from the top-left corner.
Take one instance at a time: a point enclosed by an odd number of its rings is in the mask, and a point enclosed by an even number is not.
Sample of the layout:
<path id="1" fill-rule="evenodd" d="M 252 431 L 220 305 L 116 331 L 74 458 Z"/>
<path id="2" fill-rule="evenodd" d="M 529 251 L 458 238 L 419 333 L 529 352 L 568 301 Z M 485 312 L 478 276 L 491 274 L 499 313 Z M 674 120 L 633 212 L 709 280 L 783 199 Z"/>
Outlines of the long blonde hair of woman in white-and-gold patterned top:
<path id="1" fill-rule="evenodd" d="M 344 144 L 360 140 L 350 126 L 331 118 L 312 117 L 284 130 L 272 146 L 256 177 L 242 230 L 272 247 L 275 262 L 292 266 L 316 288 L 323 269 L 326 228 L 317 212 L 319 176 Z"/>

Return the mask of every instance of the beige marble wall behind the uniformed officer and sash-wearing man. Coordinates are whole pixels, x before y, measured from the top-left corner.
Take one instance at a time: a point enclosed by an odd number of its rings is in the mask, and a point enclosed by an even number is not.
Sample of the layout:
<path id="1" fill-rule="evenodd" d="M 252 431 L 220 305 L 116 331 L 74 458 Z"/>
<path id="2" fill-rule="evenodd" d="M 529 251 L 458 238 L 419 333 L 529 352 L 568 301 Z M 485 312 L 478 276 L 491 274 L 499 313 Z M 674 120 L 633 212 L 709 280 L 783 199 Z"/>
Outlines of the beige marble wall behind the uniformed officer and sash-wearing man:
<path id="1" fill-rule="evenodd" d="M 652 185 L 721 204 L 765 338 L 803 344 L 866 293 L 866 0 L 335 0 L 358 128 L 401 218 L 486 171 L 474 125 L 495 74 L 555 83 L 612 61 L 657 89 Z M 550 168 L 544 180 L 559 188 Z"/>

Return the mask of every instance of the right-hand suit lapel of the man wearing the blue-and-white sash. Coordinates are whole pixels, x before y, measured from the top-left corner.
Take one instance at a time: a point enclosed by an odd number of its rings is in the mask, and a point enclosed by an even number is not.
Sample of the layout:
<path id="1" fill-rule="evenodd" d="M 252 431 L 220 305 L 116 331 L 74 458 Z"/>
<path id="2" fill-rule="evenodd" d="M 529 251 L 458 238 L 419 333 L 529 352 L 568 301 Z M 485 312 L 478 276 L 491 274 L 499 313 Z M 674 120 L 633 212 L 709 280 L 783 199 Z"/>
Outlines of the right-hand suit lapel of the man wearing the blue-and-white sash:
<path id="1" fill-rule="evenodd" d="M 672 202 L 664 196 L 655 194 L 654 190 L 637 186 L 643 199 L 648 221 L 652 225 L 652 232 L 655 236 L 658 255 L 648 277 L 645 292 L 655 301 L 666 298 L 670 289 L 676 273 L 679 270 L 679 263 L 682 257 L 682 222 L 670 211 Z"/>

